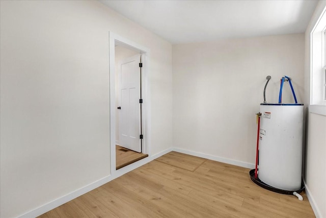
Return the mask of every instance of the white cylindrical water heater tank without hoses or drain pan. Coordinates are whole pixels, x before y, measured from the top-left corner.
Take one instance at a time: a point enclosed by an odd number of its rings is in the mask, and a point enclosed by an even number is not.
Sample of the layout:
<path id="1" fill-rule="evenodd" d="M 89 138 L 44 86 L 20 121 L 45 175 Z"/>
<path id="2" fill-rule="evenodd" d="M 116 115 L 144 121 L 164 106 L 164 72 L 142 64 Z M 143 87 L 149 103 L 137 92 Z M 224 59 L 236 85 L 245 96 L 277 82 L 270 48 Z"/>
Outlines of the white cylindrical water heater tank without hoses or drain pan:
<path id="1" fill-rule="evenodd" d="M 303 104 L 260 104 L 258 178 L 298 190 L 302 181 Z"/>

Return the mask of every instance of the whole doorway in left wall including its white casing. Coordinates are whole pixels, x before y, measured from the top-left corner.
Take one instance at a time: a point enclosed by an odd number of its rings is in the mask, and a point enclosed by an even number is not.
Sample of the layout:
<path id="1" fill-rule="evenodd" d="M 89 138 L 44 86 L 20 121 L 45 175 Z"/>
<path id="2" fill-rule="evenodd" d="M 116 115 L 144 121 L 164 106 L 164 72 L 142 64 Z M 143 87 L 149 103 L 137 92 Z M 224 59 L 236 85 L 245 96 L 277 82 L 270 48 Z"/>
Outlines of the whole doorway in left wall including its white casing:
<path id="1" fill-rule="evenodd" d="M 148 157 L 149 50 L 110 32 L 111 173 Z"/>

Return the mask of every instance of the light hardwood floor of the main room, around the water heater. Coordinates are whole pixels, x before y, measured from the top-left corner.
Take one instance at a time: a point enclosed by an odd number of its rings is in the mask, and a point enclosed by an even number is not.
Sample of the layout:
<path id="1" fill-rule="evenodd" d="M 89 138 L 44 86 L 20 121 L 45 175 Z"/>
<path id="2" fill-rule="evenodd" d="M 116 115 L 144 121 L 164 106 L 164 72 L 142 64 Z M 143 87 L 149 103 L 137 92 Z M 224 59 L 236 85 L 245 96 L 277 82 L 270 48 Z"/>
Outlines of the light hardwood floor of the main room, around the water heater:
<path id="1" fill-rule="evenodd" d="M 315 217 L 304 192 L 265 190 L 249 171 L 170 152 L 40 217 Z"/>

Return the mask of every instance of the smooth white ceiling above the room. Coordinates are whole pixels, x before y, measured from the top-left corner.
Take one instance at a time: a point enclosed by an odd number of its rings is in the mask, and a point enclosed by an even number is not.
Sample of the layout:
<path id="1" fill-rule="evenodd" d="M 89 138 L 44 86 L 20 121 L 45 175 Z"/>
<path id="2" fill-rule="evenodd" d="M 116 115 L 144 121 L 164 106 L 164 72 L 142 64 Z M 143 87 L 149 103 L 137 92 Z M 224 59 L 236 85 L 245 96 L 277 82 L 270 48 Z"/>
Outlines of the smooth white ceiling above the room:
<path id="1" fill-rule="evenodd" d="M 304 33 L 317 1 L 101 1 L 173 44 Z"/>

